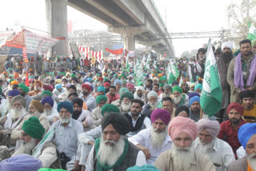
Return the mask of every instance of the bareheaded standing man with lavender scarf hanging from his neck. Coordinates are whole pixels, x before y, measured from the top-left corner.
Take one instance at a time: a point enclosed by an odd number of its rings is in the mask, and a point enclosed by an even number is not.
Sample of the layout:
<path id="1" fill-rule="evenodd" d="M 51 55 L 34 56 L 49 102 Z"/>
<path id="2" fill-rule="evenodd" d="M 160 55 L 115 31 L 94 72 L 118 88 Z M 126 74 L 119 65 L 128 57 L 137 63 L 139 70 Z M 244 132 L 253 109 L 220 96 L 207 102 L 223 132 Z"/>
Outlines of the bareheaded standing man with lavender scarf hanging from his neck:
<path id="1" fill-rule="evenodd" d="M 242 90 L 256 89 L 256 56 L 251 51 L 251 42 L 244 39 L 239 42 L 239 46 L 241 52 L 231 60 L 226 77 L 230 85 L 230 102 L 240 102 L 239 93 Z"/>

